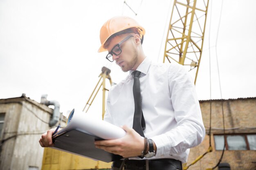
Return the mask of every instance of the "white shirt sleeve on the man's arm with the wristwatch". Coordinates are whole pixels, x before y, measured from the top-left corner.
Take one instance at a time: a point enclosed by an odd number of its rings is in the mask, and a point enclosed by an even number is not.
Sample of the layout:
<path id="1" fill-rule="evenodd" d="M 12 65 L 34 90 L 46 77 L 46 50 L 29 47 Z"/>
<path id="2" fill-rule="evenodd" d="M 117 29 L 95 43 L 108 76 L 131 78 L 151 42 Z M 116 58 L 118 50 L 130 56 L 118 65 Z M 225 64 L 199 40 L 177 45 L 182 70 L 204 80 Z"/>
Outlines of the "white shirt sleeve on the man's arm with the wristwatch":
<path id="1" fill-rule="evenodd" d="M 197 146 L 205 136 L 199 101 L 189 73 L 179 64 L 171 64 L 168 71 L 169 92 L 177 126 L 152 137 L 157 146 L 156 157 L 177 155 Z"/>

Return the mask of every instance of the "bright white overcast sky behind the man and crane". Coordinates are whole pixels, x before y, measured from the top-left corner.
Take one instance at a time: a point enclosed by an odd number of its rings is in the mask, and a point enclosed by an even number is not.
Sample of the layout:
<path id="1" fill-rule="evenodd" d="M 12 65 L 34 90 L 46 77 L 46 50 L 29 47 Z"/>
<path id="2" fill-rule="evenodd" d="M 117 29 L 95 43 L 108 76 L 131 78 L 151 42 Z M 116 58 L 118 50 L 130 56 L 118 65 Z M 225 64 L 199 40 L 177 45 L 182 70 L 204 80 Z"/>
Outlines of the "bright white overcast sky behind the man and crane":
<path id="1" fill-rule="evenodd" d="M 127 75 L 105 59 L 106 53 L 97 53 L 101 26 L 116 15 L 135 18 L 146 29 L 144 53 L 162 62 L 173 0 L 126 2 L 136 16 L 123 0 L 0 0 L 0 99 L 26 93 L 40 102 L 47 94 L 61 104 L 64 115 L 72 108 L 82 110 L 103 66 L 111 69 L 113 82 Z M 196 83 L 198 99 L 210 99 L 209 31 L 211 98 L 221 97 L 215 46 L 222 97 L 256 97 L 255 6 L 255 0 L 224 0 L 216 46 L 221 1 L 212 2 Z M 101 115 L 101 99 L 100 91 L 90 114 Z"/>

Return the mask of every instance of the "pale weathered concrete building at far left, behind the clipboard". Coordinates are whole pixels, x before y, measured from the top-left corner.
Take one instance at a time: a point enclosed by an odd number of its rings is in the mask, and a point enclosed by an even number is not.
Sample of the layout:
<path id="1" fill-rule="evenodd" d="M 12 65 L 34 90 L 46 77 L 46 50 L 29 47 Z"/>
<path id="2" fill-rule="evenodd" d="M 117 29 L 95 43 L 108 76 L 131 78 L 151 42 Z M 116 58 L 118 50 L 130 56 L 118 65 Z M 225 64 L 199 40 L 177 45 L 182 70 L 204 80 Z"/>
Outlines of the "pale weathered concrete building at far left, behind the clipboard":
<path id="1" fill-rule="evenodd" d="M 44 148 L 38 140 L 49 130 L 53 109 L 21 97 L 0 99 L 0 170 L 40 170 Z M 65 117 L 61 114 L 61 125 Z M 56 124 L 55 126 L 57 126 Z"/>

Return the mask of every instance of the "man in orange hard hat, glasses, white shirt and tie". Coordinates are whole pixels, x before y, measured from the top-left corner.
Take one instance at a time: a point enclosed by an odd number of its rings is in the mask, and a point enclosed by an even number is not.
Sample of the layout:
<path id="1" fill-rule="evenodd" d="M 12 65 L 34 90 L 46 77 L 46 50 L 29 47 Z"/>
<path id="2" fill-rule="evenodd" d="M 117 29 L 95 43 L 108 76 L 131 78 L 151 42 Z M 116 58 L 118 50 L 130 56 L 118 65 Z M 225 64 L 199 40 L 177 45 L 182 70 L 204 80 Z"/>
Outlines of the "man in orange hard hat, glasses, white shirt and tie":
<path id="1" fill-rule="evenodd" d="M 151 63 L 142 50 L 144 35 L 144 28 L 125 16 L 111 18 L 101 28 L 98 52 L 108 51 L 107 60 L 129 71 L 110 89 L 104 120 L 127 133 L 95 141 L 95 146 L 126 158 L 114 161 L 112 170 L 182 170 L 189 148 L 205 135 L 194 84 L 179 64 Z M 42 135 L 41 146 L 53 145 L 52 132 Z"/>

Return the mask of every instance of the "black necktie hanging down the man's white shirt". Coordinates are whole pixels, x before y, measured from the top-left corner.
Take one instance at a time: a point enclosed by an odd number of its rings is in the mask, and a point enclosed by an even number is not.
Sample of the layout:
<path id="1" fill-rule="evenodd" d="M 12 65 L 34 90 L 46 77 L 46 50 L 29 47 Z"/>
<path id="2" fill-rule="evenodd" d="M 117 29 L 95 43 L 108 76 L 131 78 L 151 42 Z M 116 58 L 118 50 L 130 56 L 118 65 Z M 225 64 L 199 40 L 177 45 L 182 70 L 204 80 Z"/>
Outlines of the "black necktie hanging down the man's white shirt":
<path id="1" fill-rule="evenodd" d="M 133 71 L 133 97 L 134 97 L 134 116 L 133 116 L 133 125 L 132 128 L 139 133 L 142 137 L 144 136 L 143 130 L 146 128 L 144 116 L 142 113 L 142 105 L 141 105 L 141 94 L 140 94 L 140 83 L 139 83 L 139 75 L 140 71 Z"/>

